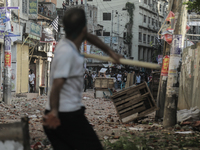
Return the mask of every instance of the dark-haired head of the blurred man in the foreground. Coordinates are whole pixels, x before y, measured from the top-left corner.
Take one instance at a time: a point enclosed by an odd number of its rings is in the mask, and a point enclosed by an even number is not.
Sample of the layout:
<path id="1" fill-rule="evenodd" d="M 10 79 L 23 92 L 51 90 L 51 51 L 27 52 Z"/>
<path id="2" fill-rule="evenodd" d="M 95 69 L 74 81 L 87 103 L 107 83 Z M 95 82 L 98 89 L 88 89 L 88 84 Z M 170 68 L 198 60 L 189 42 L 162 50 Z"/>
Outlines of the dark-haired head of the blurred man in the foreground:
<path id="1" fill-rule="evenodd" d="M 66 36 L 76 39 L 86 26 L 86 22 L 86 16 L 83 9 L 69 9 L 63 17 L 63 25 Z"/>

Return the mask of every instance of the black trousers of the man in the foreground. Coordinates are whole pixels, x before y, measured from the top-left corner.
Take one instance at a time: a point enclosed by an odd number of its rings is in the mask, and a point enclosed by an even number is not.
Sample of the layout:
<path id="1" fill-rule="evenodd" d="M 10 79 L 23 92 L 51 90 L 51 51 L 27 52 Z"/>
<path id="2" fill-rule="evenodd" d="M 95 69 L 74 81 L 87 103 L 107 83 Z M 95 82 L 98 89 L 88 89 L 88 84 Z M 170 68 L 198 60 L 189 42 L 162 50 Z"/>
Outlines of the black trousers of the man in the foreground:
<path id="1" fill-rule="evenodd" d="M 103 150 L 92 126 L 84 115 L 85 108 L 75 112 L 60 112 L 61 125 L 56 129 L 44 127 L 54 150 Z M 47 114 L 49 111 L 45 111 Z"/>

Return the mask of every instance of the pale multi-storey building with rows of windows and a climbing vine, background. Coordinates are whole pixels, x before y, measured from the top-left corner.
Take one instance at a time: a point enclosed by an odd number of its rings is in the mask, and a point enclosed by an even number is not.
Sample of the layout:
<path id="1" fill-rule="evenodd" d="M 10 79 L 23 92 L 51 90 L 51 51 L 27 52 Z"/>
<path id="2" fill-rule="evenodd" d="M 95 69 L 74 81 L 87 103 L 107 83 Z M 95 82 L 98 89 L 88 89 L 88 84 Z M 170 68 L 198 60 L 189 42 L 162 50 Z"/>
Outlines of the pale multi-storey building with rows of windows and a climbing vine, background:
<path id="1" fill-rule="evenodd" d="M 98 7 L 98 23 L 103 25 L 103 36 L 119 36 L 126 39 L 130 15 L 125 5 L 133 3 L 131 49 L 127 53 L 135 60 L 151 62 L 157 44 L 157 33 L 165 16 L 167 1 L 158 0 L 88 0 Z M 128 33 L 130 34 L 130 33 Z M 119 46 L 120 47 L 120 46 Z"/>

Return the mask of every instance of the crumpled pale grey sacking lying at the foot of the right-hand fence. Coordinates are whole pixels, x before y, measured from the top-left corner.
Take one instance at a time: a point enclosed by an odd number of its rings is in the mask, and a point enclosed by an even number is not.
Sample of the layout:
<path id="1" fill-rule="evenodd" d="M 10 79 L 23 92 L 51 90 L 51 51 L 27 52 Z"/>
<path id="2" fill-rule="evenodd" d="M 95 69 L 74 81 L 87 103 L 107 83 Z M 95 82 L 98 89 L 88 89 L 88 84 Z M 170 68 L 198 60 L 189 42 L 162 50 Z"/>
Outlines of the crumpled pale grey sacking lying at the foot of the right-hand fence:
<path id="1" fill-rule="evenodd" d="M 200 120 L 200 110 L 197 107 L 177 111 L 177 122 Z"/>

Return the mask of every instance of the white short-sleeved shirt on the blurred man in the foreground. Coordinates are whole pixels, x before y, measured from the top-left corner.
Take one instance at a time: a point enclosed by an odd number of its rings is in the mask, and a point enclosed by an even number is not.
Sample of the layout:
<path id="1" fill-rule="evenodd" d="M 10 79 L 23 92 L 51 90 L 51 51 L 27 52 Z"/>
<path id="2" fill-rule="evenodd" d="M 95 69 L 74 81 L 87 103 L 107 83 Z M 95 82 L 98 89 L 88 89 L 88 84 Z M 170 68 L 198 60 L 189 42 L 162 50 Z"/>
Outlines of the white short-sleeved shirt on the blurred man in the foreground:
<path id="1" fill-rule="evenodd" d="M 84 57 L 78 52 L 74 43 L 66 38 L 56 46 L 51 64 L 50 87 L 54 79 L 66 78 L 60 91 L 59 112 L 73 112 L 84 106 L 82 100 Z M 50 98 L 50 93 L 48 94 Z M 48 98 L 46 109 L 50 110 Z"/>

